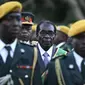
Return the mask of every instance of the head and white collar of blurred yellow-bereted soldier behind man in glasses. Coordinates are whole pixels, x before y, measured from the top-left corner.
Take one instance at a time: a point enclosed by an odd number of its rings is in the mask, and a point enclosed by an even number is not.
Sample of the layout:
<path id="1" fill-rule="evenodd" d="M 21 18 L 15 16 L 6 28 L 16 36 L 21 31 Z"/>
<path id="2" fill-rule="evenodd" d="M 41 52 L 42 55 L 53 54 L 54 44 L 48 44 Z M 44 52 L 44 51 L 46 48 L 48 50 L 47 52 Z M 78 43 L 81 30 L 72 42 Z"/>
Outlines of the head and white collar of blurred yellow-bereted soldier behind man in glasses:
<path id="1" fill-rule="evenodd" d="M 60 25 L 56 26 L 56 37 L 54 39 L 54 44 L 56 47 L 63 47 L 68 39 L 69 27 Z"/>

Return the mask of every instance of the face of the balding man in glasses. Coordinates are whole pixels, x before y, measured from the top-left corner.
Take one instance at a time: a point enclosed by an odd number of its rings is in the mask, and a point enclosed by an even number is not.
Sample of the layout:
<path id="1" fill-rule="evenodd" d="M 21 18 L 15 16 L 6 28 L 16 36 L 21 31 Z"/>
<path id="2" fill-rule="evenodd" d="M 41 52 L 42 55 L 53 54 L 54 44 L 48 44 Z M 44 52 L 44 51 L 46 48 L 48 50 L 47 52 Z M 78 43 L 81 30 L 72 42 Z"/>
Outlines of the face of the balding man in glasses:
<path id="1" fill-rule="evenodd" d="M 38 33 L 38 41 L 44 50 L 48 50 L 53 45 L 55 37 L 54 26 L 52 24 L 41 24 Z"/>

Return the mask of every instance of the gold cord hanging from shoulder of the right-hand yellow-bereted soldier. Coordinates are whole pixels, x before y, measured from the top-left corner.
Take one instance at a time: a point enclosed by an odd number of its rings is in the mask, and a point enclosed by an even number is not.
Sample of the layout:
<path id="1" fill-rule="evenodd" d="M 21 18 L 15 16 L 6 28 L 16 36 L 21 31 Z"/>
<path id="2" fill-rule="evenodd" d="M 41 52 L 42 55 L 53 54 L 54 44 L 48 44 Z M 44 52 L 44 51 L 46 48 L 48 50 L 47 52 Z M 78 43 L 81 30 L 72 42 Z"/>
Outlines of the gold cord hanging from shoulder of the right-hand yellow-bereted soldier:
<path id="1" fill-rule="evenodd" d="M 62 70 L 61 70 L 61 67 L 60 67 L 59 59 L 55 60 L 55 70 L 56 70 L 56 76 L 58 78 L 59 85 L 66 85 L 64 78 L 63 78 Z"/>

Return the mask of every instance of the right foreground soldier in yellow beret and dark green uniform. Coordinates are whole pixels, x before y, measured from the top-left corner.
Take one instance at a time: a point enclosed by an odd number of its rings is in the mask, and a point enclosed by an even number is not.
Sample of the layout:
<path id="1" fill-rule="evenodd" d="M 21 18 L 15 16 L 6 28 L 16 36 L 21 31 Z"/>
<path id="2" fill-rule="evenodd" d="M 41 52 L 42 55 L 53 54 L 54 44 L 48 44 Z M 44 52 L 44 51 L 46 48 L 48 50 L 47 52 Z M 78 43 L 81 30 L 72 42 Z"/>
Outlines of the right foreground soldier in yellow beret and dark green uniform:
<path id="1" fill-rule="evenodd" d="M 54 59 L 48 68 L 44 85 L 85 84 L 85 20 L 75 22 L 68 35 L 72 38 L 73 50 L 67 56 Z M 84 62 L 83 62 L 84 61 Z"/>

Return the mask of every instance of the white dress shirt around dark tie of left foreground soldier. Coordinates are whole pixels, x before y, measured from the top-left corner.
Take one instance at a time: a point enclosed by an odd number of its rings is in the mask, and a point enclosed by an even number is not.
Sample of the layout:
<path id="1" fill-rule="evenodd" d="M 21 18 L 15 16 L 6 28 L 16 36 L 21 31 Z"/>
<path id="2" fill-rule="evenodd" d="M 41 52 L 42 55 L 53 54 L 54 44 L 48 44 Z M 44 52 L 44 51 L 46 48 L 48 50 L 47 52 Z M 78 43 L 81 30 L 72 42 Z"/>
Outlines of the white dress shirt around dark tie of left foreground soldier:
<path id="1" fill-rule="evenodd" d="M 7 55 L 8 55 L 8 51 L 7 51 L 6 48 L 4 48 L 4 47 L 5 47 L 5 46 L 10 46 L 10 47 L 11 47 L 10 55 L 11 55 L 11 57 L 13 58 L 16 44 L 17 44 L 17 39 L 15 39 L 15 41 L 14 41 L 13 43 L 11 43 L 11 44 L 5 44 L 5 43 L 0 39 L 0 55 L 1 55 L 4 63 L 6 62 Z"/>

